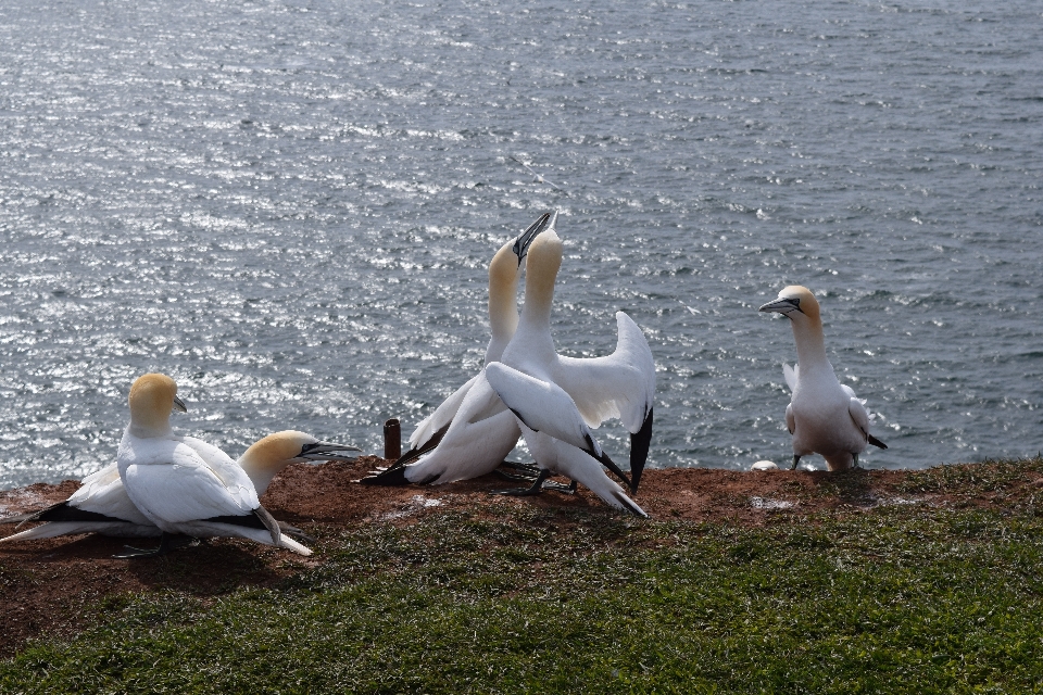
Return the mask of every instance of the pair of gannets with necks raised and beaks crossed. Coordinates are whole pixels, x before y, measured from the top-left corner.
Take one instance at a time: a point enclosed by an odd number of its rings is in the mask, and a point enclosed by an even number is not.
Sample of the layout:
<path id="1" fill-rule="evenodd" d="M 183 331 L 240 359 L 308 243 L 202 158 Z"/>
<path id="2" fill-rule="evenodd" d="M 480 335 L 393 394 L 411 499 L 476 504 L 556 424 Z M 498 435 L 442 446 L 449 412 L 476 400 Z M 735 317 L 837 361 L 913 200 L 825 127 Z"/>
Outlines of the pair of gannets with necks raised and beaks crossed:
<path id="1" fill-rule="evenodd" d="M 411 450 L 366 484 L 447 483 L 495 470 L 524 435 L 536 459 L 530 488 L 507 494 L 538 494 L 551 475 L 580 482 L 606 504 L 648 516 L 602 466 L 637 491 L 652 439 L 655 365 L 641 329 L 616 314 L 617 342 L 611 355 L 558 355 L 551 337 L 554 286 L 563 242 L 557 213 L 540 217 L 489 265 L 492 339 L 482 369 L 423 420 Z M 517 288 L 526 265 L 525 302 Z M 630 432 L 630 477 L 605 454 L 592 429 L 619 418 Z"/>

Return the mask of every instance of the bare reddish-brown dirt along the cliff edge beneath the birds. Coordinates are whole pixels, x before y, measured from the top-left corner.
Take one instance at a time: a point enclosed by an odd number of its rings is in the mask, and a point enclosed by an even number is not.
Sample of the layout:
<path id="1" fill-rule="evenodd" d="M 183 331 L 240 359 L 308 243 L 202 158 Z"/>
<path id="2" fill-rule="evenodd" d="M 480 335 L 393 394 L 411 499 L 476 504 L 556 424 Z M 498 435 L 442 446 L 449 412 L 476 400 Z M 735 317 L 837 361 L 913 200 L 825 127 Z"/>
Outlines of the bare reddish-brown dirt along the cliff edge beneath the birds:
<path id="1" fill-rule="evenodd" d="M 359 478 L 390 462 L 365 457 L 351 463 L 294 465 L 285 469 L 261 498 L 275 518 L 288 521 L 319 540 L 349 528 L 453 509 L 497 505 L 542 505 L 603 509 L 604 504 L 580 486 L 575 495 L 545 492 L 536 497 L 492 497 L 495 490 L 517 486 L 490 475 L 444 486 L 379 488 L 360 485 Z M 1028 471 L 1027 471 L 1028 472 Z M 825 510 L 859 513 L 888 504 L 980 507 L 1008 506 L 1040 494 L 1043 479 L 1028 472 L 1004 489 L 1002 498 L 972 498 L 902 492 L 909 471 L 855 470 L 736 472 L 714 469 L 646 470 L 634 500 L 653 518 L 759 526 L 800 519 Z M 76 481 L 35 484 L 0 492 L 0 514 L 23 514 L 62 502 Z M 14 525 L 0 523 L 0 536 Z M 120 560 L 126 541 L 97 535 L 63 536 L 0 545 L 0 657 L 22 649 L 41 635 L 73 634 L 87 608 L 100 601 L 165 589 L 202 598 L 240 586 L 271 586 L 323 561 L 322 551 L 301 557 L 286 551 L 234 539 L 213 539 L 166 556 Z M 154 539 L 131 544 L 152 547 Z"/>

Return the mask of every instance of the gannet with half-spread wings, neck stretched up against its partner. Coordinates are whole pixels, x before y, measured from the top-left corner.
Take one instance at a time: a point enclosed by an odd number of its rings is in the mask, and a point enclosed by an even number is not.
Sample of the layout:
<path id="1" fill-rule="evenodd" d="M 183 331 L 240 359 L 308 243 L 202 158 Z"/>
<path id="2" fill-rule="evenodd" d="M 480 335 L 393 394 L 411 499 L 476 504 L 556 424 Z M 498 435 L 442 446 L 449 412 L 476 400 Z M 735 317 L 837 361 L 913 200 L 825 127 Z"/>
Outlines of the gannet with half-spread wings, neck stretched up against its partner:
<path id="1" fill-rule="evenodd" d="M 541 472 L 532 488 L 537 494 L 552 475 L 583 483 L 608 505 L 648 516 L 623 489 L 610 480 L 604 464 L 638 489 L 652 439 L 652 399 L 655 365 L 648 341 L 629 316 L 616 313 L 616 351 L 605 357 L 563 357 L 551 337 L 554 283 L 562 265 L 562 240 L 550 226 L 529 248 L 525 304 L 514 338 L 499 363 L 486 367 L 486 377 L 516 416 L 529 452 Z M 591 429 L 618 417 L 630 431 L 630 476 L 604 453 Z"/>

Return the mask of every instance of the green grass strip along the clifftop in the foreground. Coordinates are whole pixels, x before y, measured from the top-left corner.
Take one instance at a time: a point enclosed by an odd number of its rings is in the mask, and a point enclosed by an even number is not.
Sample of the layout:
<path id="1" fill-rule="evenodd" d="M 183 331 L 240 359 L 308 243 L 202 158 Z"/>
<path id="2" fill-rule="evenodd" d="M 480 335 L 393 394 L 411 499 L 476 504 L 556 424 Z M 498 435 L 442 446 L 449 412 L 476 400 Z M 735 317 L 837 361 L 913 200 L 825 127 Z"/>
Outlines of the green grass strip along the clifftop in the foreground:
<path id="1" fill-rule="evenodd" d="M 319 567 L 273 590 L 110 598 L 77 637 L 0 665 L 0 691 L 1043 692 L 1031 510 L 758 529 L 483 514 L 329 538 Z"/>

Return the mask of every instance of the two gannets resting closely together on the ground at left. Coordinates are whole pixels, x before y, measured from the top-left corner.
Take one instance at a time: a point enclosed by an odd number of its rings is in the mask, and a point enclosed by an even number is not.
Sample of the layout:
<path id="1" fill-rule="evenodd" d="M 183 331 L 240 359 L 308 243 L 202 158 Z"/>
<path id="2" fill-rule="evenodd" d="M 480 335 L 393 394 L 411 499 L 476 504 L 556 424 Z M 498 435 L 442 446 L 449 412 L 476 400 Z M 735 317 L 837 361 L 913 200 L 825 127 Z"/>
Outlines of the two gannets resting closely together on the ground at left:
<path id="1" fill-rule="evenodd" d="M 348 460 L 361 450 L 286 430 L 259 440 L 239 460 L 233 460 L 216 446 L 174 433 L 171 415 L 184 413 L 186 407 L 169 377 L 139 377 L 128 401 L 130 424 L 120 442 L 116 463 L 85 478 L 83 486 L 63 503 L 3 519 L 5 523 L 43 523 L 0 542 L 77 533 L 160 536 L 153 551 L 130 548 L 131 553 L 120 556 L 144 557 L 186 539 L 239 536 L 311 555 L 307 547 L 289 538 L 307 536 L 276 521 L 261 506 L 259 495 L 290 464 Z"/>

